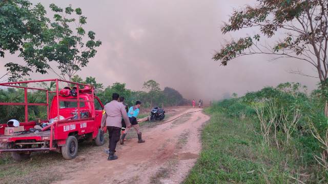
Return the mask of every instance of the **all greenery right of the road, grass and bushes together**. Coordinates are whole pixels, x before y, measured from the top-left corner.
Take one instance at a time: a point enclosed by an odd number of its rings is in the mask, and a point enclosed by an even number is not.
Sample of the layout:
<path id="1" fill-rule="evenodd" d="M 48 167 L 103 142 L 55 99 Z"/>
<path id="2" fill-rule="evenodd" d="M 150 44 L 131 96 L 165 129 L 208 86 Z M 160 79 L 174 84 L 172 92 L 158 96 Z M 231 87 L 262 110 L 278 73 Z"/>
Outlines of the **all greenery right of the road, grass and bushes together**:
<path id="1" fill-rule="evenodd" d="M 324 157 L 328 119 L 323 113 L 322 94 L 322 87 L 308 95 L 305 86 L 286 82 L 213 103 L 206 109 L 212 118 L 203 132 L 204 151 L 187 183 L 232 182 L 228 178 L 256 183 L 271 178 L 270 182 L 286 183 L 292 182 L 292 177 L 305 183 L 326 183 L 328 171 L 323 165 L 328 162 Z M 247 144 L 242 145 L 244 142 Z M 250 163 L 235 168 L 236 158 Z M 281 164 L 285 160 L 288 163 Z M 214 166 L 213 162 L 218 164 Z M 253 168 L 248 167 L 250 164 Z M 244 170 L 254 172 L 244 175 Z M 300 177 L 304 172 L 311 177 Z"/>

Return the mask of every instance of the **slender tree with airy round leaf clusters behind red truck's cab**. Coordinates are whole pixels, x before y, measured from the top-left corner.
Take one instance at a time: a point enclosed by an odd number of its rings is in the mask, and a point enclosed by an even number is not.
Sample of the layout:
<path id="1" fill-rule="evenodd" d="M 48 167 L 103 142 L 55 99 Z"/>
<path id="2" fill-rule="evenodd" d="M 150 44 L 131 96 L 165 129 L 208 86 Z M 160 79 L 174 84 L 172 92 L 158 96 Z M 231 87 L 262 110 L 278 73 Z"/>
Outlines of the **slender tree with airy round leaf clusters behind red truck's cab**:
<path id="1" fill-rule="evenodd" d="M 49 30 L 43 32 L 47 39 L 43 44 L 25 43 L 20 56 L 27 63 L 39 62 L 43 70 L 48 69 L 61 79 L 71 80 L 95 56 L 95 49 L 101 45 L 101 41 L 94 41 L 93 31 L 87 33 L 88 37 L 85 36 L 83 25 L 87 23 L 87 17 L 82 15 L 80 8 L 74 10 L 70 5 L 64 10 L 54 4 L 49 7 L 54 12 L 54 21 Z M 76 26 L 75 31 L 71 29 L 72 25 Z M 85 39 L 88 41 L 85 42 Z M 55 66 L 49 62 L 55 62 Z M 55 67 L 60 72 L 56 72 Z"/>

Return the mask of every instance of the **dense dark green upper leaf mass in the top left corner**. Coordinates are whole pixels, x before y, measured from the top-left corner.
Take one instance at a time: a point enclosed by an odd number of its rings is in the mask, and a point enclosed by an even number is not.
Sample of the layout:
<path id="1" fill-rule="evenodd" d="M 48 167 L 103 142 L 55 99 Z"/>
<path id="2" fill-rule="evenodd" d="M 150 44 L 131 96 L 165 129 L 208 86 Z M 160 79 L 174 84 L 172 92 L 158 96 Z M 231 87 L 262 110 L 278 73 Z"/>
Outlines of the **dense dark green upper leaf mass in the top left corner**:
<path id="1" fill-rule="evenodd" d="M 5 57 L 4 51 L 14 54 L 22 49 L 25 40 L 38 37 L 46 22 L 46 10 L 41 4 L 32 6 L 29 1 L 0 2 L 0 56 Z M 40 38 L 36 38 L 40 39 Z"/>

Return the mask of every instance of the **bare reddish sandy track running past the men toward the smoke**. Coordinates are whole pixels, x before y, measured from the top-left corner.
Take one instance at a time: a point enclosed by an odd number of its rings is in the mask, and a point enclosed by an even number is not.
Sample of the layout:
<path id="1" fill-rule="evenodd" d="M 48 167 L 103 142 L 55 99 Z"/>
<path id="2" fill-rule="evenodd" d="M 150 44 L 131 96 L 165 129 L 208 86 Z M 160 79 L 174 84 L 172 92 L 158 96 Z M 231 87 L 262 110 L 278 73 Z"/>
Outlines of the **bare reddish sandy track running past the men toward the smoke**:
<path id="1" fill-rule="evenodd" d="M 182 113 L 197 111 L 188 109 Z M 172 120 L 182 113 L 169 118 Z M 201 149 L 200 128 L 209 117 L 201 111 L 153 128 L 142 129 L 146 143 L 137 139 L 118 144 L 117 160 L 107 161 L 103 151 L 87 155 L 87 167 L 69 172 L 55 183 L 179 183 L 194 165 Z M 135 131 L 130 131 L 135 134 Z M 77 157 L 77 162 L 79 158 Z M 81 164 L 81 163 L 76 163 Z"/>

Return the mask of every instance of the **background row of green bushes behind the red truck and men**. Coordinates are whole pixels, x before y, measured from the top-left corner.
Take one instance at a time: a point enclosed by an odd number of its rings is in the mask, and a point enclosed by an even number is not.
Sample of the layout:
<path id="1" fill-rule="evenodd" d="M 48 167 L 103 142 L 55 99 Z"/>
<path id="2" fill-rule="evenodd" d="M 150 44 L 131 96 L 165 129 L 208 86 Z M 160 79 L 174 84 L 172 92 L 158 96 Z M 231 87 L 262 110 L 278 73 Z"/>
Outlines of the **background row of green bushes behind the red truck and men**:
<path id="1" fill-rule="evenodd" d="M 83 80 L 78 75 L 72 77 L 73 82 L 90 84 L 95 87 L 95 94 L 99 97 L 100 101 L 105 105 L 112 100 L 112 94 L 118 93 L 120 96 L 125 97 L 125 102 L 132 106 L 137 100 L 142 102 L 141 109 L 145 109 L 147 114 L 149 109 L 153 106 L 175 106 L 186 105 L 188 101 L 182 97 L 182 95 L 175 89 L 166 87 L 166 90 L 157 91 L 158 96 L 154 98 L 152 93 L 145 91 L 134 91 L 128 89 L 125 83 L 115 82 L 111 86 L 107 86 L 103 89 L 103 84 L 98 83 L 94 77 L 87 77 Z M 23 86 L 23 85 L 22 85 Z M 24 85 L 27 86 L 27 85 Z M 75 85 L 74 85 L 75 86 Z M 40 83 L 37 87 L 46 88 L 50 91 L 56 89 L 55 82 Z M 73 87 L 73 86 L 72 86 Z M 83 88 L 83 86 L 80 86 Z M 53 95 L 50 95 L 49 100 L 52 100 Z M 153 99 L 152 99 L 153 98 Z M 152 99 L 152 100 L 151 100 Z M 24 89 L 14 88 L 2 88 L 0 89 L 0 102 L 24 102 Z M 28 91 L 29 103 L 46 103 L 45 91 Z M 29 120 L 35 120 L 36 118 L 47 118 L 47 110 L 45 106 L 29 106 Z M 10 119 L 17 119 L 21 122 L 25 121 L 25 107 L 23 105 L 17 106 L 5 106 L 0 105 L 0 124 L 6 123 Z"/>

